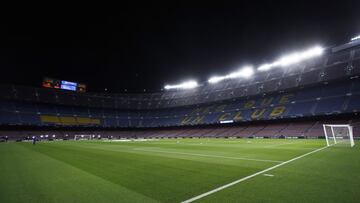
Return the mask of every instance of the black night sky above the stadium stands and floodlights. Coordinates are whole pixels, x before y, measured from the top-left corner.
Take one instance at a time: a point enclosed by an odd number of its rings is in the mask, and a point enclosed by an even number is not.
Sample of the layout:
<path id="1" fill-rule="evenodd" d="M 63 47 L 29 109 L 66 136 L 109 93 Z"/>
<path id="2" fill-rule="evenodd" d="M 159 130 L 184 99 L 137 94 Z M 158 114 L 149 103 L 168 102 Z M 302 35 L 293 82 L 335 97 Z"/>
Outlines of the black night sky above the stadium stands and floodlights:
<path id="1" fill-rule="evenodd" d="M 358 1 L 237 1 L 11 10 L 0 20 L 0 83 L 44 76 L 89 91 L 159 91 L 360 34 Z M 46 11 L 44 11 L 46 10 Z M 85 10 L 85 11 L 84 11 Z"/>

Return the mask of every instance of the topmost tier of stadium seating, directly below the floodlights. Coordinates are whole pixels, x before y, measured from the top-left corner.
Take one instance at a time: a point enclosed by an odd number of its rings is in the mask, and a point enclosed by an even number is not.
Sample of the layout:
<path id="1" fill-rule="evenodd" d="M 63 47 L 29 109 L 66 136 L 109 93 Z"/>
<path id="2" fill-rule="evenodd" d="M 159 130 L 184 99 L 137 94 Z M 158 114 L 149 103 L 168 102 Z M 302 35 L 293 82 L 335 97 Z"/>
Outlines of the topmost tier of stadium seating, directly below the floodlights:
<path id="1" fill-rule="evenodd" d="M 0 85 L 0 98 L 109 109 L 160 109 L 270 94 L 321 82 L 360 76 L 360 49 L 327 53 L 287 68 L 257 72 L 249 79 L 201 84 L 191 90 L 144 94 L 74 93 L 45 88 Z"/>

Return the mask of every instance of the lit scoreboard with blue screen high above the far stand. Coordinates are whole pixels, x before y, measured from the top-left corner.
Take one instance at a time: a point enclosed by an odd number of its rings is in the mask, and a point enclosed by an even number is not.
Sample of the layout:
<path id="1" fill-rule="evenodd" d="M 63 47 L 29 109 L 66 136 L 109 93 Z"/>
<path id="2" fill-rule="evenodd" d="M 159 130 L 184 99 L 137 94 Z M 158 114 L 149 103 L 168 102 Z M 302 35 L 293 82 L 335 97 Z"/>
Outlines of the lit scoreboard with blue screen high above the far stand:
<path id="1" fill-rule="evenodd" d="M 57 80 L 52 78 L 44 78 L 42 86 L 46 88 L 86 92 L 86 85 L 83 83 L 69 82 L 66 80 Z"/>

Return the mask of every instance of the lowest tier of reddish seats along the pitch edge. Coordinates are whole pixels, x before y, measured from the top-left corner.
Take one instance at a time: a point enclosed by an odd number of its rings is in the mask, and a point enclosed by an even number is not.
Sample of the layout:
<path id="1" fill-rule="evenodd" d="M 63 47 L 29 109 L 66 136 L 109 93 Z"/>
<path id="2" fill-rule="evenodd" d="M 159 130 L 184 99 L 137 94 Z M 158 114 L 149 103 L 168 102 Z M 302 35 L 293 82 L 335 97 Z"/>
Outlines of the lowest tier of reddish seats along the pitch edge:
<path id="1" fill-rule="evenodd" d="M 236 138 L 236 137 L 323 137 L 323 123 L 350 123 L 354 127 L 354 135 L 359 135 L 360 120 L 320 120 L 320 121 L 289 121 L 278 124 L 252 124 L 240 126 L 202 126 L 201 128 L 151 128 L 125 130 L 5 130 L 0 137 L 9 136 L 13 139 L 31 139 L 32 136 L 42 139 L 73 139 L 75 135 L 92 135 L 93 139 L 142 139 L 142 138 Z"/>

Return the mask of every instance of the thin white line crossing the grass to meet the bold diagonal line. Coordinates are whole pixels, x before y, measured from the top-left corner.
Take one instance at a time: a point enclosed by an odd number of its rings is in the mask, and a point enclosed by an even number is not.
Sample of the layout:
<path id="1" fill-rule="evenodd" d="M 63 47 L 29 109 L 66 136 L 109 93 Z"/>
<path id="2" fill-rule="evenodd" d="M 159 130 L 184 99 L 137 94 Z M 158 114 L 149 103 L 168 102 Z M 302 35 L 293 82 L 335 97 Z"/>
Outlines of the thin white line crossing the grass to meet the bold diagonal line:
<path id="1" fill-rule="evenodd" d="M 277 160 L 252 159 L 252 158 L 232 157 L 232 156 L 219 156 L 219 155 L 210 155 L 210 154 L 195 154 L 195 153 L 187 153 L 187 152 L 172 152 L 172 151 L 152 150 L 152 149 L 143 149 L 143 148 L 133 148 L 133 150 L 144 151 L 144 152 L 181 154 L 181 155 L 190 155 L 190 156 L 214 157 L 214 158 L 223 158 L 223 159 L 236 159 L 236 160 L 246 160 L 246 161 L 260 161 L 260 162 L 283 163 L 283 161 L 277 161 Z"/>

